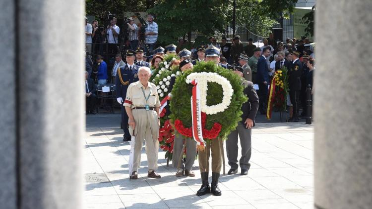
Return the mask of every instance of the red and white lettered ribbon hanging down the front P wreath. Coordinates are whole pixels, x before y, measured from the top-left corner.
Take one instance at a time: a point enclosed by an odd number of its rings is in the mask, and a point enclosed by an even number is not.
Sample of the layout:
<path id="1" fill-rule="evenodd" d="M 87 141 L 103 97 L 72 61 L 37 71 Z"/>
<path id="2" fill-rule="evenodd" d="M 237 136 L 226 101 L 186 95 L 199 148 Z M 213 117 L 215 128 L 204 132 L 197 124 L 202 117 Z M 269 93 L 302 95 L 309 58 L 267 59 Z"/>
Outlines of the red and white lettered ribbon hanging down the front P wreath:
<path id="1" fill-rule="evenodd" d="M 201 126 L 201 101 L 200 101 L 200 89 L 197 85 L 197 81 L 193 80 L 192 85 L 192 96 L 191 96 L 191 116 L 192 116 L 192 135 L 196 141 L 197 146 L 205 147 L 205 141 L 203 139 L 202 126 Z"/>

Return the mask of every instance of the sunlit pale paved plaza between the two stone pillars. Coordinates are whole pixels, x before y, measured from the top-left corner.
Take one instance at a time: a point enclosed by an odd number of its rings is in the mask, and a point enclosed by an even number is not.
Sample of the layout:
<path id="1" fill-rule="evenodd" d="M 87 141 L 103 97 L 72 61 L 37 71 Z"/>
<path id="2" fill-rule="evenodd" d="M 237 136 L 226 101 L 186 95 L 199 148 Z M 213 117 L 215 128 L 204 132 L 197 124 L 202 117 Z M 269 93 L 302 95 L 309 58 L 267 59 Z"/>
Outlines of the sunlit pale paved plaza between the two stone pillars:
<path id="1" fill-rule="evenodd" d="M 157 171 L 162 178 L 148 178 L 144 147 L 138 179 L 129 181 L 130 146 L 122 139 L 118 127 L 86 128 L 86 209 L 313 209 L 312 125 L 257 124 L 252 130 L 248 175 L 240 175 L 240 169 L 235 175 L 221 171 L 220 197 L 195 195 L 201 185 L 197 160 L 195 177 L 176 177 L 176 168 L 167 167 L 161 150 Z M 225 161 L 227 172 L 226 150 Z"/>

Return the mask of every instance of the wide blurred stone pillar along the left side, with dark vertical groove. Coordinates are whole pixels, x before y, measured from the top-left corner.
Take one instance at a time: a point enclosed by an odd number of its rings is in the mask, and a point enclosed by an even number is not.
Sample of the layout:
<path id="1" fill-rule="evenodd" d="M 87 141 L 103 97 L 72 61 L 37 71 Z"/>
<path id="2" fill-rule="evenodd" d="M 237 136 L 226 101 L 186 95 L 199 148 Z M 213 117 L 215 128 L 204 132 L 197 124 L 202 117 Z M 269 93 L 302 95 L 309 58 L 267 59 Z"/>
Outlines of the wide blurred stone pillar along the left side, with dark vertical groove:
<path id="1" fill-rule="evenodd" d="M 0 6 L 1 208 L 80 209 L 84 1 Z"/>

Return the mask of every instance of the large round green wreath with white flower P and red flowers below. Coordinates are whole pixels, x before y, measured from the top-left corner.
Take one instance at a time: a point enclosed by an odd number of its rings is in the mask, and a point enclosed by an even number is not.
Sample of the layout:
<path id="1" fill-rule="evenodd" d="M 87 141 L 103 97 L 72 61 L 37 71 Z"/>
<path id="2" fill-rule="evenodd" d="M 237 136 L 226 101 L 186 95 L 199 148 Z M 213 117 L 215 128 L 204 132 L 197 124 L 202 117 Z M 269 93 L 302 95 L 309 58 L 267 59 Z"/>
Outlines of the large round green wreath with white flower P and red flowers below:
<path id="1" fill-rule="evenodd" d="M 206 101 L 201 102 L 203 138 L 226 138 L 241 121 L 241 107 L 247 101 L 241 78 L 216 66 L 214 62 L 202 62 L 176 79 L 172 90 L 171 119 L 175 122 L 178 132 L 188 138 L 192 138 L 192 80 L 197 80 L 198 85 L 207 84 L 203 87 L 207 89 L 206 92 L 200 90 L 200 94 L 205 96 L 201 98 L 206 98 Z M 217 80 L 220 84 L 216 83 Z"/>

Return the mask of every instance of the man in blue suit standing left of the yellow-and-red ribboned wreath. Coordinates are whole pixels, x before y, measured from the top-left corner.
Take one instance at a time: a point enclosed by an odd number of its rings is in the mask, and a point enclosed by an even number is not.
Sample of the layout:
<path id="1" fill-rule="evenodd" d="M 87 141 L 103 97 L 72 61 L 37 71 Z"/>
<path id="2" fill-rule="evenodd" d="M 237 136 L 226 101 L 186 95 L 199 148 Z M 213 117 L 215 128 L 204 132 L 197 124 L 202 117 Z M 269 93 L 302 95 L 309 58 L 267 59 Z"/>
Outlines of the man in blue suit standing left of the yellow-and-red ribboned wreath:
<path id="1" fill-rule="evenodd" d="M 266 115 L 267 95 L 269 83 L 269 67 L 267 66 L 266 58 L 270 56 L 270 48 L 263 48 L 262 55 L 257 62 L 257 77 L 258 96 L 259 96 L 259 111 L 262 115 Z"/>

